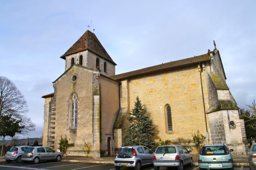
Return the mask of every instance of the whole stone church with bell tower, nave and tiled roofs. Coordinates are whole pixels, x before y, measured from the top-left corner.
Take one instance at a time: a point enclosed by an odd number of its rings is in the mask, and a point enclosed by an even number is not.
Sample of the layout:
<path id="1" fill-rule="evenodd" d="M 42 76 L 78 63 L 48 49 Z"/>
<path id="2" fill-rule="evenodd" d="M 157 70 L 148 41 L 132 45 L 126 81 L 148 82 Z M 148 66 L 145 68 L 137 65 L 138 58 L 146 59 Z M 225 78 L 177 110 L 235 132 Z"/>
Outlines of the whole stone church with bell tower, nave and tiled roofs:
<path id="1" fill-rule="evenodd" d="M 226 84 L 220 52 L 214 50 L 152 67 L 115 74 L 116 63 L 87 30 L 60 58 L 65 72 L 45 98 L 43 145 L 58 149 L 61 135 L 74 147 L 70 156 L 113 156 L 124 142 L 126 119 L 139 96 L 156 128 L 154 139 L 192 138 L 227 143 L 242 154 L 246 135 Z M 171 56 L 169 56 L 171 57 Z M 182 56 L 181 56 L 182 58 Z"/>

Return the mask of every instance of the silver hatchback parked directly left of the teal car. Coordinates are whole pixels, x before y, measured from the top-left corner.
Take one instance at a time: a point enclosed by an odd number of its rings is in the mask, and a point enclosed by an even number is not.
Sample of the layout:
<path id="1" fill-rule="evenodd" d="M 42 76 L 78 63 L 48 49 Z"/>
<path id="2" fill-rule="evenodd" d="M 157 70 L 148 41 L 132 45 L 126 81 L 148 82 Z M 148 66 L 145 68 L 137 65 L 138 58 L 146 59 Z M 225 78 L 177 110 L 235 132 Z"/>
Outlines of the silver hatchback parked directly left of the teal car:
<path id="1" fill-rule="evenodd" d="M 160 166 L 176 166 L 178 170 L 183 170 L 183 165 L 193 166 L 191 150 L 187 150 L 182 145 L 166 145 L 156 148 L 154 154 L 154 169 L 159 170 Z"/>

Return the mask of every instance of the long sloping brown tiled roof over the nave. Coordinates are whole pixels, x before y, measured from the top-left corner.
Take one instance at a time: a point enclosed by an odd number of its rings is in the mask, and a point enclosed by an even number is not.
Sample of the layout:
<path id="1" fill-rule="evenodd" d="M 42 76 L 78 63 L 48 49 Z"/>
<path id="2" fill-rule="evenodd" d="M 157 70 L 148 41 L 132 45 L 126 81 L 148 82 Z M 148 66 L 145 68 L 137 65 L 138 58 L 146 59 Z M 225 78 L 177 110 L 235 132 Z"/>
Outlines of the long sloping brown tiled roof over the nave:
<path id="1" fill-rule="evenodd" d="M 142 68 L 142 69 L 135 70 L 132 72 L 117 74 L 117 75 L 109 76 L 109 77 L 114 80 L 125 79 L 127 77 L 146 74 L 146 73 L 154 72 L 157 70 L 174 68 L 174 67 L 184 66 L 184 65 L 193 64 L 193 63 L 199 63 L 199 62 L 208 61 L 208 60 L 210 60 L 210 55 L 207 53 L 207 54 L 198 55 L 198 56 L 190 57 L 190 58 L 183 59 L 183 60 L 177 60 L 177 61 L 172 61 L 172 62 L 168 62 L 168 63 L 163 63 L 163 64 L 159 64 L 156 66 Z"/>

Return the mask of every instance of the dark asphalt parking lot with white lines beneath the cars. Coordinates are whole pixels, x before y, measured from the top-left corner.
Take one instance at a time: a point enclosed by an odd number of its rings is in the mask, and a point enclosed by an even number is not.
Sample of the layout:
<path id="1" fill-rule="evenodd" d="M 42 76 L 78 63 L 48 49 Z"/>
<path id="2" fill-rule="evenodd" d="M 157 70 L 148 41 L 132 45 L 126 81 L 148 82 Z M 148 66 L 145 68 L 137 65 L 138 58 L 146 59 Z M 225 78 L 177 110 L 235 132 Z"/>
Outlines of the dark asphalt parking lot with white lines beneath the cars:
<path id="1" fill-rule="evenodd" d="M 184 166 L 184 170 L 198 170 L 198 166 Z M 79 162 L 39 162 L 33 163 L 6 163 L 0 162 L 0 170 L 114 170 L 114 164 L 79 163 Z M 144 166 L 141 170 L 153 170 L 153 165 Z M 176 168 L 172 168 L 176 170 Z M 235 170 L 249 170 L 249 166 L 234 166 Z M 134 170 L 133 168 L 121 168 L 121 170 Z M 167 170 L 166 167 L 160 170 Z"/>

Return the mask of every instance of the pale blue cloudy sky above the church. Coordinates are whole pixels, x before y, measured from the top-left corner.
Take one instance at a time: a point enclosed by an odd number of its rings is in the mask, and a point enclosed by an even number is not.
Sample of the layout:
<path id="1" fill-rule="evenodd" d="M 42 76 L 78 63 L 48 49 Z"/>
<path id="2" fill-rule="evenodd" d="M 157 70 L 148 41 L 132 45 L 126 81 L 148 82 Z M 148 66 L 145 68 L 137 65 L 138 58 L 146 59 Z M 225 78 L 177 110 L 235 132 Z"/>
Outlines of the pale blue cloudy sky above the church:
<path id="1" fill-rule="evenodd" d="M 29 137 L 40 137 L 41 97 L 54 92 L 65 71 L 60 56 L 88 25 L 116 74 L 206 54 L 215 40 L 230 92 L 244 107 L 256 99 L 255 7 L 254 0 L 0 0 L 0 75 L 25 96 L 36 124 Z"/>

